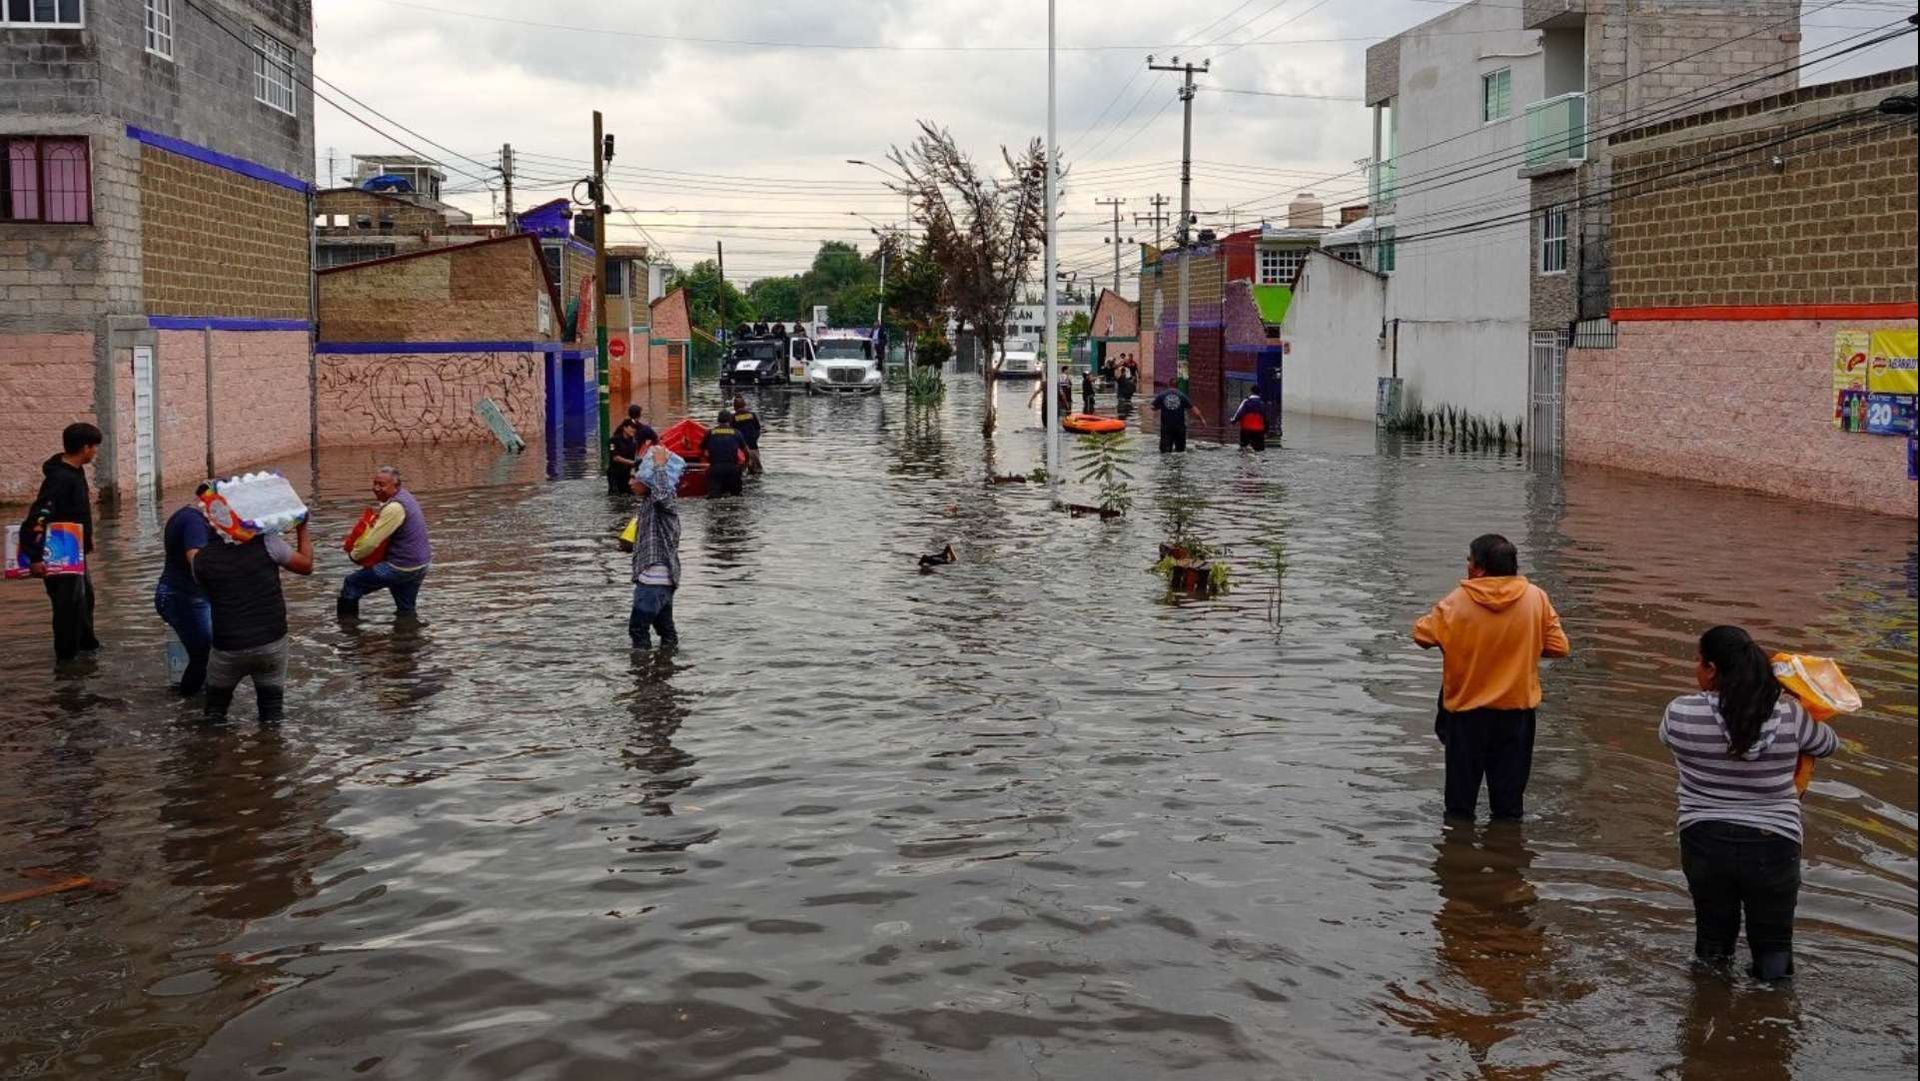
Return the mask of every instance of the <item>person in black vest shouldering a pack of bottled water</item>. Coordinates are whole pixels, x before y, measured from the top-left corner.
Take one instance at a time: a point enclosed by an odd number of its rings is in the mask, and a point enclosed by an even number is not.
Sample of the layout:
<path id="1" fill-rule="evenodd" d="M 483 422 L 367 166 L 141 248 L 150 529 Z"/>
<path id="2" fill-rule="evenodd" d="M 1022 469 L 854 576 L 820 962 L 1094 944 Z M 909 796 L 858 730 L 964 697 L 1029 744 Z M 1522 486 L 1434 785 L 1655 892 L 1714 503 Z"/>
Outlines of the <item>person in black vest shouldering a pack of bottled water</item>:
<path id="1" fill-rule="evenodd" d="M 286 595 L 280 570 L 313 574 L 313 541 L 300 522 L 294 543 L 280 534 L 255 534 L 232 543 L 225 534 L 194 553 L 194 580 L 213 609 L 213 651 L 207 655 L 205 718 L 227 720 L 240 680 L 253 678 L 259 722 L 278 724 L 286 712 Z"/>

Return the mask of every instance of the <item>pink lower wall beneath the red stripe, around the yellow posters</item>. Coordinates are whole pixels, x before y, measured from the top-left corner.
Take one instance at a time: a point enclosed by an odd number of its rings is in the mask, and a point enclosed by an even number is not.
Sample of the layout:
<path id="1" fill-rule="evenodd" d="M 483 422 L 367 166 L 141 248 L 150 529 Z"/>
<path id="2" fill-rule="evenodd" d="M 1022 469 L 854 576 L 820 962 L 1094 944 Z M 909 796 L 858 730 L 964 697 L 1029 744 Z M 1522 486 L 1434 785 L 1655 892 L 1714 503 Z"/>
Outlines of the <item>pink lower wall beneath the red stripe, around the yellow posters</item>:
<path id="1" fill-rule="evenodd" d="M 1620 323 L 1567 353 L 1567 457 L 1914 518 L 1907 440 L 1834 428 L 1834 332 L 1912 321 Z"/>

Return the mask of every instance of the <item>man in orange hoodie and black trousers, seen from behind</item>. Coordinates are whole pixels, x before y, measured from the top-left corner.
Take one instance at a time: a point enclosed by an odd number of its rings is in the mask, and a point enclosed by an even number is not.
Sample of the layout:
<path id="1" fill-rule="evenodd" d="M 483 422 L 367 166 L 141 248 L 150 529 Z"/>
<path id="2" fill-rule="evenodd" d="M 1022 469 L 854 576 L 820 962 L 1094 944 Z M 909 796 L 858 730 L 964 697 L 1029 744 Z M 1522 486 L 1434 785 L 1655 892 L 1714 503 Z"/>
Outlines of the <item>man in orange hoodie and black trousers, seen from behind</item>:
<path id="1" fill-rule="evenodd" d="M 1521 818 L 1534 768 L 1540 659 L 1572 651 L 1553 601 L 1519 565 L 1507 538 L 1475 538 L 1467 578 L 1413 624 L 1421 649 L 1446 655 L 1434 735 L 1446 747 L 1448 818 L 1473 818 L 1480 778 L 1494 818 Z"/>

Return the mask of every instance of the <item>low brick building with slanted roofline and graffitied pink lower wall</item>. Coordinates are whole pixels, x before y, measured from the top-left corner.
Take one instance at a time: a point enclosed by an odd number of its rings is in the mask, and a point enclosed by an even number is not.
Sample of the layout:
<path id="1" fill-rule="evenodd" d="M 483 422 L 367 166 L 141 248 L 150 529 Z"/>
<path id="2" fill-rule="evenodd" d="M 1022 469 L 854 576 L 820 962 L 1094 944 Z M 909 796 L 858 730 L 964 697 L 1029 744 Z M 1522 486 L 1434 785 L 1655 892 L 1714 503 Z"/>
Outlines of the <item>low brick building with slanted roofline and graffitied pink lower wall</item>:
<path id="1" fill-rule="evenodd" d="M 528 442 L 553 434 L 568 405 L 584 419 L 580 353 L 559 340 L 561 298 L 538 238 L 432 248 L 317 278 L 319 445 L 492 442 L 474 413 L 482 397 Z"/>

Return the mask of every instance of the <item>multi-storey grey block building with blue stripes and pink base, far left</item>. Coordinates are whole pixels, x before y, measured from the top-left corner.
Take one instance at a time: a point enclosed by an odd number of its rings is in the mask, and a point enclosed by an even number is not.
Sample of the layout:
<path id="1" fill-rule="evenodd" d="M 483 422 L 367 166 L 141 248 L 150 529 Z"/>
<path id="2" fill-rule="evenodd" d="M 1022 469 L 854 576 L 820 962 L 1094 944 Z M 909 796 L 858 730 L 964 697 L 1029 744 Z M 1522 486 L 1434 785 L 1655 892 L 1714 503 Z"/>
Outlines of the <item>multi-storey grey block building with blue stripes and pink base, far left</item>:
<path id="1" fill-rule="evenodd" d="M 309 2 L 0 23 L 0 499 L 33 493 L 73 420 L 106 432 L 102 495 L 305 449 Z"/>

